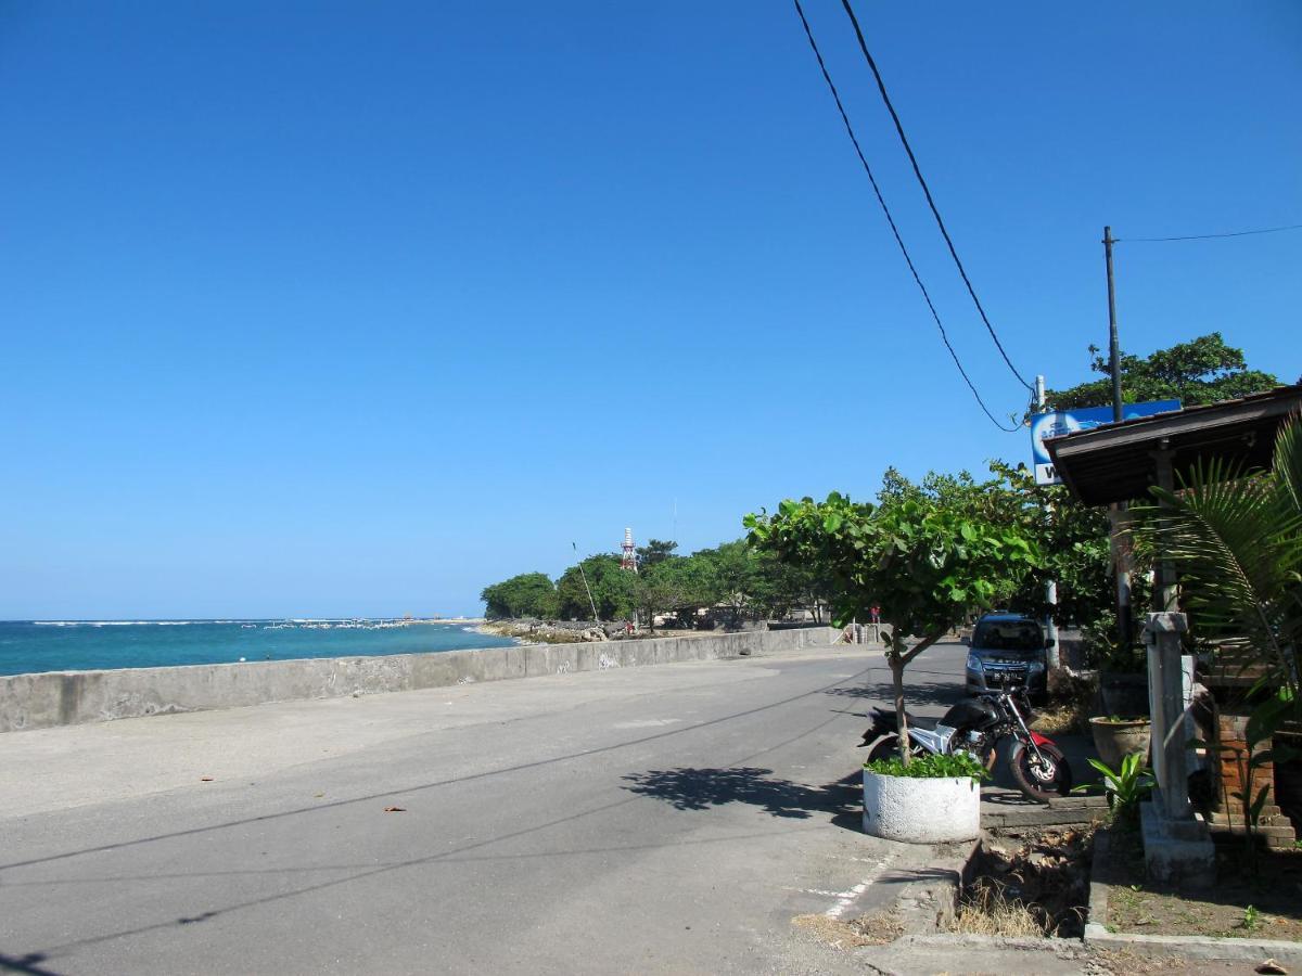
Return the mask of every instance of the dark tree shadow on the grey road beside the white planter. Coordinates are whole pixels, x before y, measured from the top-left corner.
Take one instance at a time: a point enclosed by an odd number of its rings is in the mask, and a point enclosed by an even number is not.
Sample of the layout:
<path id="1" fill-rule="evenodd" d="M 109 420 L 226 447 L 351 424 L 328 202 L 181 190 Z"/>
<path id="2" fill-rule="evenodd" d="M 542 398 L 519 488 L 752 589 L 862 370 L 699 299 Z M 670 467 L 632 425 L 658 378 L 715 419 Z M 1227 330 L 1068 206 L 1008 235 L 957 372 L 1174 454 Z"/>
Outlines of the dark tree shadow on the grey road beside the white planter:
<path id="1" fill-rule="evenodd" d="M 674 809 L 700 811 L 746 803 L 775 817 L 825 817 L 837 826 L 855 829 L 863 794 L 859 774 L 852 773 L 825 786 L 807 786 L 775 777 L 772 769 L 648 769 L 625 776 L 625 790 L 664 800 Z"/>

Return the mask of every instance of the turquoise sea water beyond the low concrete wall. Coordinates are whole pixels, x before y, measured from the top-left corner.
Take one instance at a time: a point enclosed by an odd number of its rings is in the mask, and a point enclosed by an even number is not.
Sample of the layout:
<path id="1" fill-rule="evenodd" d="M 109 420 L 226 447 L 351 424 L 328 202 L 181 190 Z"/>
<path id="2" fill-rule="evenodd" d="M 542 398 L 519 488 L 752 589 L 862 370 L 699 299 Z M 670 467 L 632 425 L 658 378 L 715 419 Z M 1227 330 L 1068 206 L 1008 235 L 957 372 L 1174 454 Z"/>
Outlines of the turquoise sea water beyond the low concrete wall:
<path id="1" fill-rule="evenodd" d="M 410 655 L 513 643 L 460 623 L 0 621 L 0 674 Z"/>

